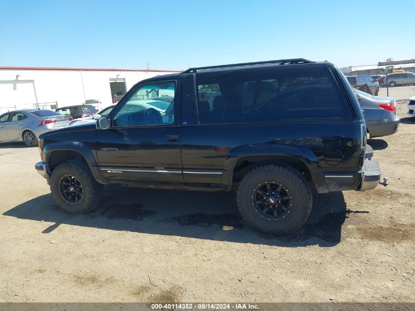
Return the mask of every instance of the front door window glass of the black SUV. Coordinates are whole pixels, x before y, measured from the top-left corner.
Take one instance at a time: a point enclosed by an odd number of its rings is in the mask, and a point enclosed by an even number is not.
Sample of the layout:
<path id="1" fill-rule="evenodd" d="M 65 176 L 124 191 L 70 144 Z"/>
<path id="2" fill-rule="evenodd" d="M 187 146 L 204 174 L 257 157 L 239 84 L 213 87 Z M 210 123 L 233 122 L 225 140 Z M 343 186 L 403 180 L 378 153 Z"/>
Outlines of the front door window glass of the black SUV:
<path id="1" fill-rule="evenodd" d="M 174 124 L 174 81 L 141 85 L 114 113 L 114 126 Z"/>

